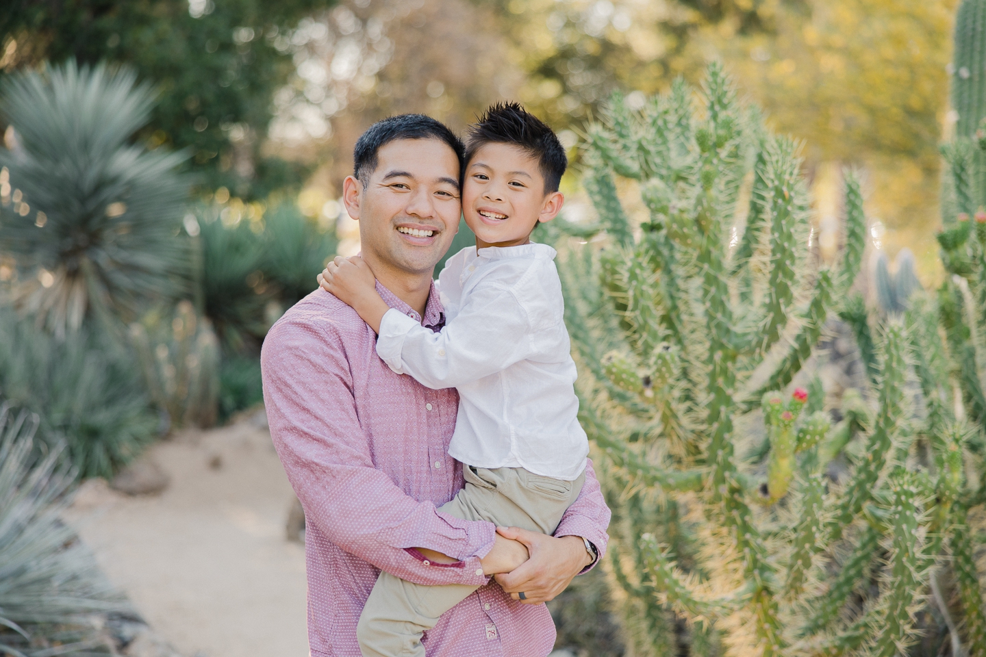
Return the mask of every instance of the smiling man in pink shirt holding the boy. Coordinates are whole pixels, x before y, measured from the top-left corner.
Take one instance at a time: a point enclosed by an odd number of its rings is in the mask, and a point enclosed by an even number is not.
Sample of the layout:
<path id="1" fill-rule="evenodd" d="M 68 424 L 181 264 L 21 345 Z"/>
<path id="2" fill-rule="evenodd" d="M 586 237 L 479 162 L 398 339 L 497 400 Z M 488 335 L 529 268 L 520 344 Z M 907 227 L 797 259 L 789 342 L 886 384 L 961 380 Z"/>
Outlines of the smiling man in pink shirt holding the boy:
<path id="1" fill-rule="evenodd" d="M 391 117 L 360 138 L 354 161 L 343 199 L 378 292 L 440 328 L 432 277 L 458 230 L 461 143 L 427 116 Z M 264 341 L 271 435 L 305 508 L 312 654 L 359 657 L 356 624 L 384 569 L 417 584 L 480 586 L 426 633 L 429 657 L 546 655 L 555 632 L 539 603 L 605 550 L 609 511 L 592 466 L 554 537 L 438 512 L 462 486 L 447 452 L 458 395 L 392 372 L 375 338 L 319 289 Z"/>

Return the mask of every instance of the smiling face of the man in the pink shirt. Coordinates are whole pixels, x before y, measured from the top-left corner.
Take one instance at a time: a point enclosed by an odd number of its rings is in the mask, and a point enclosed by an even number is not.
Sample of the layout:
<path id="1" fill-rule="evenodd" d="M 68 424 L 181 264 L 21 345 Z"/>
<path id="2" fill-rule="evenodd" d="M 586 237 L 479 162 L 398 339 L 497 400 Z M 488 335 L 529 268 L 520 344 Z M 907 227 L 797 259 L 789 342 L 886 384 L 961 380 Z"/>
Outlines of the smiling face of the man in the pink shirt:
<path id="1" fill-rule="evenodd" d="M 347 178 L 344 193 L 360 222 L 363 258 L 371 267 L 430 275 L 458 230 L 458 157 L 437 139 L 398 139 L 377 158 L 368 183 Z"/>

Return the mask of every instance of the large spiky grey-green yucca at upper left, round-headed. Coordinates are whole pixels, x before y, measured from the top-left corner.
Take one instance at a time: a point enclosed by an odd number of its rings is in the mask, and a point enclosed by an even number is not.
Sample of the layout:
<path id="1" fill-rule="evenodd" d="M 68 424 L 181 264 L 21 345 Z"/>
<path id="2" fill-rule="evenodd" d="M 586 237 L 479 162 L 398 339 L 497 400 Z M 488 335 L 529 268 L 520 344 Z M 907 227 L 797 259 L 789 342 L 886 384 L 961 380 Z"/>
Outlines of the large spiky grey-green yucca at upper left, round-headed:
<path id="1" fill-rule="evenodd" d="M 129 69 L 71 61 L 0 90 L 15 142 L 0 149 L 0 253 L 18 271 L 18 305 L 59 335 L 186 289 L 185 156 L 130 142 L 154 96 Z"/>

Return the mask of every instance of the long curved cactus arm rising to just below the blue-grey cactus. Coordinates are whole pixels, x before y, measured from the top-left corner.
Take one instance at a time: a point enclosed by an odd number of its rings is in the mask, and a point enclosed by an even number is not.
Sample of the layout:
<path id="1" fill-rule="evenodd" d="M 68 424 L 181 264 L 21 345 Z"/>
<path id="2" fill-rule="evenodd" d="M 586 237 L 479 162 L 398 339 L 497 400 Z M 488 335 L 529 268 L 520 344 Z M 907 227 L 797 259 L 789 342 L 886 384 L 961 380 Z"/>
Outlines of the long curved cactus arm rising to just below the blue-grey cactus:
<path id="1" fill-rule="evenodd" d="M 883 343 L 882 381 L 880 382 L 880 411 L 873 433 L 867 442 L 866 456 L 857 466 L 852 481 L 843 493 L 838 510 L 829 522 L 830 541 L 837 541 L 842 531 L 853 521 L 872 496 L 874 485 L 886 462 L 892 436 L 903 414 L 903 388 L 907 373 L 907 335 L 896 321 L 886 327 Z"/>

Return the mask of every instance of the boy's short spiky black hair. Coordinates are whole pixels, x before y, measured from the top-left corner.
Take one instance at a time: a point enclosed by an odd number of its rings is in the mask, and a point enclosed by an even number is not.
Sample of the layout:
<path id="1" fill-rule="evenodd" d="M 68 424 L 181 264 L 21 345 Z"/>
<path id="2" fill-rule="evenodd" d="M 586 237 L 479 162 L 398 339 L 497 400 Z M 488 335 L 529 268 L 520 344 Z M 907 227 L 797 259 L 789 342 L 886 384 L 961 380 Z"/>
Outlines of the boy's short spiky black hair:
<path id="1" fill-rule="evenodd" d="M 544 193 L 558 191 L 568 166 L 565 148 L 547 124 L 517 102 L 490 105 L 479 120 L 469 126 L 465 138 L 465 164 L 486 144 L 511 144 L 537 159 L 544 178 Z M 464 166 L 463 166 L 464 170 Z"/>

